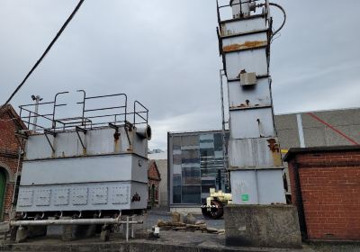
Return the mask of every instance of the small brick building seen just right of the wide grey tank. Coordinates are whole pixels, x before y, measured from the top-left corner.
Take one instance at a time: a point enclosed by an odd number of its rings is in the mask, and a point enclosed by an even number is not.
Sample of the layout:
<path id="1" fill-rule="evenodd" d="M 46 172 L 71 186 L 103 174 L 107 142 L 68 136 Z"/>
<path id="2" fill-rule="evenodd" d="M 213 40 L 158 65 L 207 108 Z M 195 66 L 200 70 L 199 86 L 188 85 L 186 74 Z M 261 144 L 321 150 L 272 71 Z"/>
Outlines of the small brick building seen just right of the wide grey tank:
<path id="1" fill-rule="evenodd" d="M 157 168 L 155 160 L 151 160 L 148 164 L 148 206 L 158 207 L 159 206 L 159 184 L 161 176 Z"/>

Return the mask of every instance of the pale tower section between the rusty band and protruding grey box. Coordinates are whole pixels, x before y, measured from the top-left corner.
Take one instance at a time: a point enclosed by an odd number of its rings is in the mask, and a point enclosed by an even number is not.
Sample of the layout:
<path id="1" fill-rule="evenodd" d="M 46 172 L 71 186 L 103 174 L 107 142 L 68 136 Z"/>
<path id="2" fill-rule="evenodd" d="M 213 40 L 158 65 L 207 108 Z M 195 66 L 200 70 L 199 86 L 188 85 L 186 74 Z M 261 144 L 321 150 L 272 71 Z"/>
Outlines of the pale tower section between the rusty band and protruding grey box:
<path id="1" fill-rule="evenodd" d="M 266 49 L 248 49 L 225 54 L 229 79 L 238 78 L 241 70 L 256 73 L 257 76 L 268 75 Z"/>

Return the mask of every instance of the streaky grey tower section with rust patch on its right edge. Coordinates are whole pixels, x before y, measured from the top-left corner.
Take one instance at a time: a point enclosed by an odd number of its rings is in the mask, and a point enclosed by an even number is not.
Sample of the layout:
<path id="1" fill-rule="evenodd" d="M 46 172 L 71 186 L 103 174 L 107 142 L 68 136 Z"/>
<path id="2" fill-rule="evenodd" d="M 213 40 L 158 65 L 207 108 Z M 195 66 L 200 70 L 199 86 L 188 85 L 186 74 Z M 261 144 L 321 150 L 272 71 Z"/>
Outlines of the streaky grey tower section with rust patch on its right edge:
<path id="1" fill-rule="evenodd" d="M 282 167 L 277 138 L 230 139 L 229 168 Z"/>

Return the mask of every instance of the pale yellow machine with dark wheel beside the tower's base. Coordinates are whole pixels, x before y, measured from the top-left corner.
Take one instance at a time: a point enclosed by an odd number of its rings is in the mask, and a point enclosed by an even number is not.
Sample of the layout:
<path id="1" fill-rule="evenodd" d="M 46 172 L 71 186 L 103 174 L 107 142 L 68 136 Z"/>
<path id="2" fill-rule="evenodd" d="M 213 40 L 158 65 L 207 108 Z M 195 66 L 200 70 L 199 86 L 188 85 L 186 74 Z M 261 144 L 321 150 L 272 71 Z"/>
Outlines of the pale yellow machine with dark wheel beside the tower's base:
<path id="1" fill-rule="evenodd" d="M 224 214 L 224 206 L 232 203 L 231 193 L 216 192 L 215 188 L 210 189 L 210 197 L 202 204 L 202 215 L 206 219 L 220 219 Z"/>

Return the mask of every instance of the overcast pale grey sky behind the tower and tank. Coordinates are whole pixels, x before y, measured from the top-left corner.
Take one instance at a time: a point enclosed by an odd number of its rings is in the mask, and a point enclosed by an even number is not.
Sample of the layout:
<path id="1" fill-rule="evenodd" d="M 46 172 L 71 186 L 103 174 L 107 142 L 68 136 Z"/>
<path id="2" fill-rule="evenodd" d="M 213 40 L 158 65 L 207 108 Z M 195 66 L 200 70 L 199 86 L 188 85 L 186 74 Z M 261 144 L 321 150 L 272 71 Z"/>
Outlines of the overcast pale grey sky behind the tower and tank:
<path id="1" fill-rule="evenodd" d="M 360 106 L 360 1 L 274 2 L 287 13 L 271 49 L 275 113 Z M 0 0 L 0 103 L 76 4 Z M 272 14 L 276 27 L 283 15 Z M 150 148 L 165 149 L 167 131 L 220 129 L 216 27 L 215 0 L 85 0 L 11 103 L 31 103 L 31 94 L 52 101 L 69 91 L 61 97 L 69 103 L 63 112 L 76 116 L 77 89 L 89 96 L 125 93 L 129 104 L 139 100 L 148 107 Z"/>

